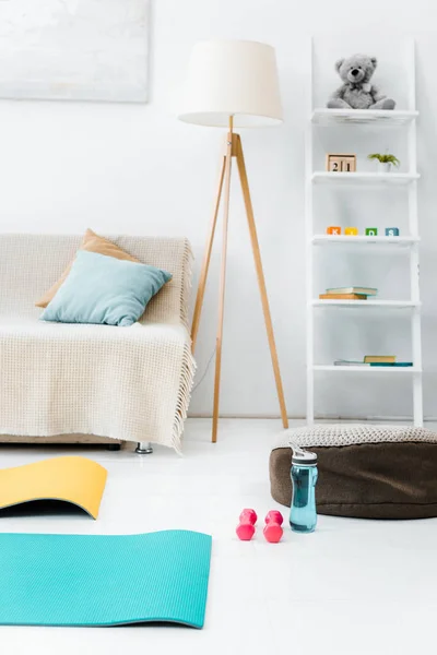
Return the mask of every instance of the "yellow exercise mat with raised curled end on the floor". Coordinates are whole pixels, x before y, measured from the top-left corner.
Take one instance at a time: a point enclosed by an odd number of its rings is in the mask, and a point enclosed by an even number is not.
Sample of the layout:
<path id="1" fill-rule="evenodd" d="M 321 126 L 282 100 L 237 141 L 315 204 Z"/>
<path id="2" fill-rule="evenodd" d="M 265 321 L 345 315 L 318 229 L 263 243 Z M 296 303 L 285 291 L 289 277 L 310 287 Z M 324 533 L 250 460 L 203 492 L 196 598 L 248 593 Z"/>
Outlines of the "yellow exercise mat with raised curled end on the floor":
<path id="1" fill-rule="evenodd" d="M 106 468 L 86 457 L 54 457 L 0 469 L 0 510 L 34 500 L 61 500 L 97 519 Z"/>

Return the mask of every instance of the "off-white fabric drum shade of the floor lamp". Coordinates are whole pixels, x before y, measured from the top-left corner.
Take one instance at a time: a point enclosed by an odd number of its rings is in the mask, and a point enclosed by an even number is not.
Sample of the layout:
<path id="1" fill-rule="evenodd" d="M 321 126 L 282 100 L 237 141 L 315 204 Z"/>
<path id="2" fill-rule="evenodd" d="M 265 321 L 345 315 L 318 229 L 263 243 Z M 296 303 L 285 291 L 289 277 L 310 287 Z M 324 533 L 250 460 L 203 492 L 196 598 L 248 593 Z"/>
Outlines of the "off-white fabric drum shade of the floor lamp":
<path id="1" fill-rule="evenodd" d="M 200 126 L 258 128 L 282 122 L 274 48 L 241 40 L 194 46 L 180 120 Z"/>

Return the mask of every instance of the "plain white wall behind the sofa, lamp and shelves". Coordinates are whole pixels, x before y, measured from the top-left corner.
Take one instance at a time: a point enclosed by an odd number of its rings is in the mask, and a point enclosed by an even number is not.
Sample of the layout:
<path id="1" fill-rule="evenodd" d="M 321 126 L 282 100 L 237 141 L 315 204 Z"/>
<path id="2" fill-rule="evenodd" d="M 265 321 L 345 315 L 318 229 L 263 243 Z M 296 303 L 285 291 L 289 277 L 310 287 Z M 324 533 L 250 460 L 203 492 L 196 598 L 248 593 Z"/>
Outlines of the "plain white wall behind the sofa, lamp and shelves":
<path id="1" fill-rule="evenodd" d="M 285 123 L 279 129 L 247 131 L 244 143 L 288 413 L 302 416 L 305 412 L 304 88 L 308 37 L 332 32 L 333 38 L 339 39 L 339 31 L 346 35 L 351 28 L 358 28 L 363 33 L 381 33 L 382 38 L 382 27 L 388 26 L 414 34 L 422 112 L 418 162 L 423 174 L 420 212 L 424 237 L 425 412 L 436 416 L 437 39 L 435 33 L 424 32 L 435 24 L 435 3 L 367 0 L 366 10 L 361 12 L 359 7 L 349 9 L 340 0 L 155 0 L 152 9 L 149 105 L 0 103 L 1 229 L 82 233 L 90 226 L 97 233 L 187 235 L 197 257 L 197 279 L 223 134 L 220 130 L 178 122 L 174 117 L 175 91 L 184 76 L 190 49 L 200 39 L 231 37 L 272 44 L 277 51 Z M 332 84 L 334 88 L 334 74 Z M 383 199 L 382 202 L 388 211 L 390 204 Z M 197 353 L 200 373 L 214 348 L 217 269 L 218 250 L 215 250 Z M 222 413 L 276 415 L 261 307 L 236 184 L 227 279 Z M 394 324 L 390 329 L 394 331 Z M 402 338 L 406 340 L 406 334 Z M 406 343 L 400 343 L 401 352 Z M 371 343 L 365 345 L 366 350 L 371 349 Z M 192 413 L 210 413 L 212 380 L 213 367 L 193 394 Z M 350 381 L 346 384 L 338 380 L 334 385 L 335 380 L 322 382 L 319 388 L 326 391 L 318 404 L 323 413 L 410 410 L 410 395 L 403 384 L 399 389 L 397 384 L 390 388 L 373 384 L 362 390 L 351 389 Z M 368 391 L 373 392 L 373 403 L 365 402 Z"/>

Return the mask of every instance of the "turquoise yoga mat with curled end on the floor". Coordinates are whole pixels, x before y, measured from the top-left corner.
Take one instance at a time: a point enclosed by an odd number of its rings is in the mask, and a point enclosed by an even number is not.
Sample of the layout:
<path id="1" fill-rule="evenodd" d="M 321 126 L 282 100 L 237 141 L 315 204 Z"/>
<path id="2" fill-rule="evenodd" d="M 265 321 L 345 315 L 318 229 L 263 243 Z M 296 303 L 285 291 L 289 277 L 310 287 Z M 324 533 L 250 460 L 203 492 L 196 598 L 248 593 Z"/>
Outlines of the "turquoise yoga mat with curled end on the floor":
<path id="1" fill-rule="evenodd" d="M 0 624 L 202 628 L 211 537 L 0 534 Z"/>

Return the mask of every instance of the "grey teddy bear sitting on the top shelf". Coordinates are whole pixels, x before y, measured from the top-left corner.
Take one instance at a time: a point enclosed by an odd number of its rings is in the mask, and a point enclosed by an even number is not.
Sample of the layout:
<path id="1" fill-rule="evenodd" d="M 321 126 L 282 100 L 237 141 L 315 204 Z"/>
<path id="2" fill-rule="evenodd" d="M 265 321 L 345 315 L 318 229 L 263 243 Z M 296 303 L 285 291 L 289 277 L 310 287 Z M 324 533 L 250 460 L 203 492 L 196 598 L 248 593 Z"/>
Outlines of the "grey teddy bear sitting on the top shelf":
<path id="1" fill-rule="evenodd" d="M 327 103 L 330 109 L 394 109 L 395 103 L 370 83 L 377 67 L 376 57 L 354 55 L 339 59 L 335 70 L 343 84 Z"/>

